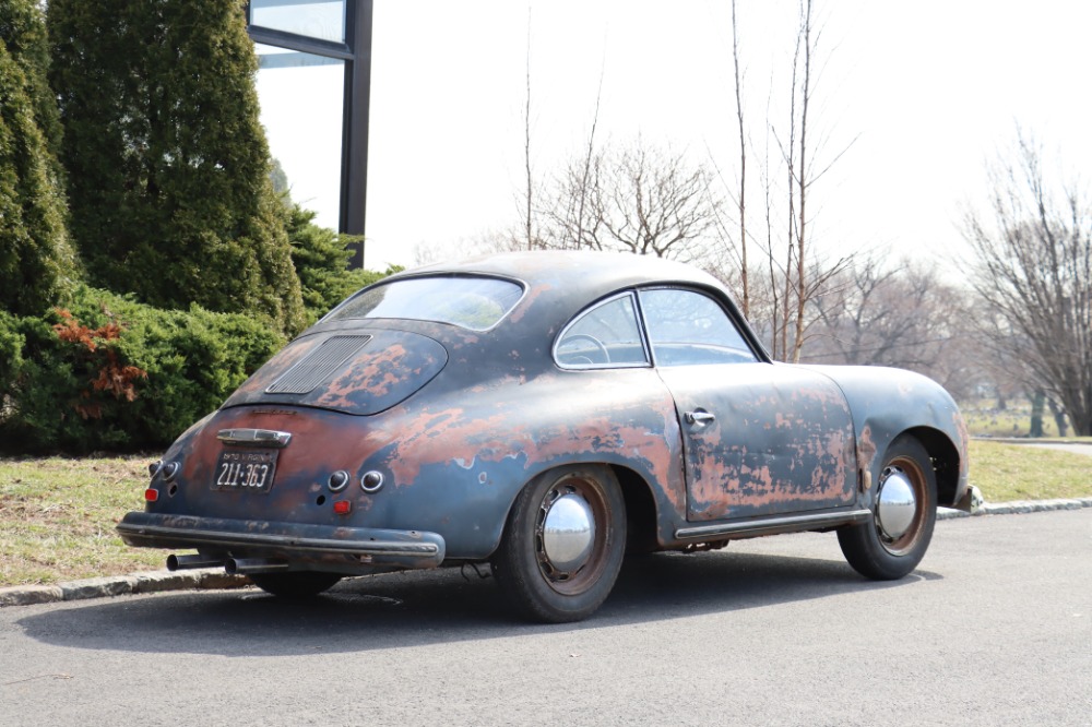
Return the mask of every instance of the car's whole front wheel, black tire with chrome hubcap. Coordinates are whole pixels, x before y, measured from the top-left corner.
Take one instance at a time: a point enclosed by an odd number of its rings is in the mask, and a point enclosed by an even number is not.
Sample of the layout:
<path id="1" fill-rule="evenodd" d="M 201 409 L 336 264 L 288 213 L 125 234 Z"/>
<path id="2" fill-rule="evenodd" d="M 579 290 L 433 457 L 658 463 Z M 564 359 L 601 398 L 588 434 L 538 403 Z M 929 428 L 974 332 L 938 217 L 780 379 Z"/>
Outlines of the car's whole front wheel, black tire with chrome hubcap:
<path id="1" fill-rule="evenodd" d="M 891 488 L 885 497 L 885 487 Z M 900 501 L 899 492 L 911 492 L 913 504 Z M 881 499 L 886 505 L 881 505 Z M 882 513 L 893 527 L 883 523 Z M 909 520 L 907 524 L 903 524 Z M 912 572 L 925 557 L 937 522 L 937 476 L 925 448 L 913 437 L 891 442 L 873 498 L 873 517 L 867 523 L 838 531 L 842 553 L 855 571 L 876 581 L 894 581 Z M 892 532 L 893 531 L 893 532 Z"/>

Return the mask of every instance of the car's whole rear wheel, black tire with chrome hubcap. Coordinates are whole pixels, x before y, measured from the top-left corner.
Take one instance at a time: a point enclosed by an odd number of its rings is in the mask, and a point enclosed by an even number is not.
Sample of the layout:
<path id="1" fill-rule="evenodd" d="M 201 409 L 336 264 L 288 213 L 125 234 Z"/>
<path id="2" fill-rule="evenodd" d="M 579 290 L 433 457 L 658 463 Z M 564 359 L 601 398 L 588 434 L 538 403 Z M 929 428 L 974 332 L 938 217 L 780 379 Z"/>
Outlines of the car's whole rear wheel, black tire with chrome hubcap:
<path id="1" fill-rule="evenodd" d="M 563 521 L 568 515 L 573 520 Z M 570 527 L 559 527 L 562 522 Z M 592 525 L 571 527 L 583 522 Z M 566 539 L 570 536 L 574 539 Z M 548 547 L 569 561 L 551 557 Z M 625 550 L 626 502 L 610 468 L 561 467 L 531 480 L 517 497 L 492 570 L 524 617 L 544 623 L 580 621 L 610 593 Z"/>

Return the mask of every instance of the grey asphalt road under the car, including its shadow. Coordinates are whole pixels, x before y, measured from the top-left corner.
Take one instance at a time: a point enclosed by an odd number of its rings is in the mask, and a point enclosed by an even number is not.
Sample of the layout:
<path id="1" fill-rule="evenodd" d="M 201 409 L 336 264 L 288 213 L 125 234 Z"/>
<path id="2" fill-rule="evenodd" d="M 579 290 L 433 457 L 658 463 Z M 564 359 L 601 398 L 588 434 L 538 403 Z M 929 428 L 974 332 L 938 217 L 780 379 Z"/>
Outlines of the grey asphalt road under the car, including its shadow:
<path id="1" fill-rule="evenodd" d="M 1092 726 L 1092 508 L 948 517 L 917 571 L 832 534 L 628 560 L 587 621 L 471 569 L 0 608 L 0 725 Z"/>

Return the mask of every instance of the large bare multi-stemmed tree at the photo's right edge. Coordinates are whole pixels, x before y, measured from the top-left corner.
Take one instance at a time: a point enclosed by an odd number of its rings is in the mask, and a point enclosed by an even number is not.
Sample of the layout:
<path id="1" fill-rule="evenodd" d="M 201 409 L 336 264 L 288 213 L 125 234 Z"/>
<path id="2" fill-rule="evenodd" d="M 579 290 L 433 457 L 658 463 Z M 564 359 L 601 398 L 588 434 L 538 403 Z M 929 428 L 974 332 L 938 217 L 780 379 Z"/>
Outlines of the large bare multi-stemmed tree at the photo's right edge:
<path id="1" fill-rule="evenodd" d="M 1018 133 L 1014 162 L 990 171 L 988 212 L 970 212 L 972 284 L 997 313 L 988 331 L 1092 434 L 1092 198 L 1052 183 L 1042 153 Z"/>

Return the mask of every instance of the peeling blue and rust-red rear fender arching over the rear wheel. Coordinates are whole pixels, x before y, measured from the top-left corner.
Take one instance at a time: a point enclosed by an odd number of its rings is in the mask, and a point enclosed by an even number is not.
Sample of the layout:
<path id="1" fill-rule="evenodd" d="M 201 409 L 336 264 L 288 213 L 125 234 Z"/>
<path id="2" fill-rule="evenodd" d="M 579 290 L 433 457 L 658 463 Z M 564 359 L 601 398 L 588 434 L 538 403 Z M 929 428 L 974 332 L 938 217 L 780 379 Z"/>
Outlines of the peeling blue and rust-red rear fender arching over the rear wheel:
<path id="1" fill-rule="evenodd" d="M 400 436 L 371 462 L 400 489 L 405 482 L 430 494 L 414 497 L 408 509 L 392 502 L 381 520 L 405 512 L 443 519 L 446 527 L 427 527 L 444 536 L 449 557 L 485 558 L 527 482 L 566 465 L 605 464 L 624 488 L 645 488 L 661 521 L 657 538 L 674 532 L 686 508 L 681 433 L 674 401 L 651 369 L 546 374 L 520 386 L 446 397 L 461 406 L 392 419 Z"/>

